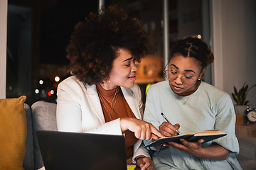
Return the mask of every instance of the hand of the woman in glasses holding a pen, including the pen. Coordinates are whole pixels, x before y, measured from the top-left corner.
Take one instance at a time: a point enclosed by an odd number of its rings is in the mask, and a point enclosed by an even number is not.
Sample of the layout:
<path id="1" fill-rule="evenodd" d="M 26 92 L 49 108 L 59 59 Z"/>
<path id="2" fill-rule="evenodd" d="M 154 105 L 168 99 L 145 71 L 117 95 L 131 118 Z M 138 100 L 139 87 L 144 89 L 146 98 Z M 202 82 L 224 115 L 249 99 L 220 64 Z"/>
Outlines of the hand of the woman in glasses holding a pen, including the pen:
<path id="1" fill-rule="evenodd" d="M 167 122 L 167 123 L 163 122 L 159 126 L 159 131 L 161 132 L 161 134 L 163 134 L 164 136 L 179 135 L 180 132 L 178 131 L 178 129 L 180 128 L 180 125 L 178 123 L 176 123 L 175 125 L 172 125 L 171 122 L 166 118 L 164 113 L 161 113 L 161 115 L 164 117 L 164 119 Z"/>

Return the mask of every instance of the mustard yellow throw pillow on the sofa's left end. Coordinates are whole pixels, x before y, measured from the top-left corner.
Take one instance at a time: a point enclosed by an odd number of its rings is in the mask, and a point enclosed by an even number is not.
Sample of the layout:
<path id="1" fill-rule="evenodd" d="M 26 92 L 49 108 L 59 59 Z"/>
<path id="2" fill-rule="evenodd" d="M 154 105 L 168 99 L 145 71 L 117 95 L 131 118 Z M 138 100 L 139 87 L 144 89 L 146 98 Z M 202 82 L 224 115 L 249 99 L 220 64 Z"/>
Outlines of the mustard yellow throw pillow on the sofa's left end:
<path id="1" fill-rule="evenodd" d="M 0 99 L 0 169 L 23 169 L 26 152 L 26 96 Z"/>

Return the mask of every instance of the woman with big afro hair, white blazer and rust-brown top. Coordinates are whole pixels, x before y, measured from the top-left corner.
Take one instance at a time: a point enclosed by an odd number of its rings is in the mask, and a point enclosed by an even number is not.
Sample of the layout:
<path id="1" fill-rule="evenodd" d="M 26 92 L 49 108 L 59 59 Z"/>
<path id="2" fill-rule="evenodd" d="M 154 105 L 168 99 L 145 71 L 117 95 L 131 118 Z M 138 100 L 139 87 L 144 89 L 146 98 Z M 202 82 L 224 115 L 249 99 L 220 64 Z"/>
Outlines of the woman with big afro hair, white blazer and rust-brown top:
<path id="1" fill-rule="evenodd" d="M 143 24 L 117 6 L 90 13 L 75 26 L 66 51 L 68 77 L 58 85 L 59 131 L 124 135 L 127 160 L 154 169 L 142 140 L 163 137 L 142 119 L 134 62 L 150 55 Z"/>

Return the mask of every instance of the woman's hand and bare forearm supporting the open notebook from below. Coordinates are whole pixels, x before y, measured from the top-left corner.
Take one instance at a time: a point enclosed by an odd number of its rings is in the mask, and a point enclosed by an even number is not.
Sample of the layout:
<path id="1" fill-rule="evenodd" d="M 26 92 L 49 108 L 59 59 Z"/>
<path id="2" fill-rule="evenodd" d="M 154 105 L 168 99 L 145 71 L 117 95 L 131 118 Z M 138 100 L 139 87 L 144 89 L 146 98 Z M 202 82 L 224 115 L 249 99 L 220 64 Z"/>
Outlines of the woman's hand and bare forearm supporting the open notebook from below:
<path id="1" fill-rule="evenodd" d="M 203 157 L 206 159 L 225 159 L 230 154 L 227 149 L 218 144 L 210 147 L 201 147 L 202 143 L 204 142 L 203 139 L 198 140 L 197 142 L 188 142 L 181 139 L 181 142 L 183 145 L 176 142 L 167 142 L 165 145 L 168 147 L 174 147 L 183 152 L 187 152 L 188 154 L 193 154 L 196 157 Z"/>

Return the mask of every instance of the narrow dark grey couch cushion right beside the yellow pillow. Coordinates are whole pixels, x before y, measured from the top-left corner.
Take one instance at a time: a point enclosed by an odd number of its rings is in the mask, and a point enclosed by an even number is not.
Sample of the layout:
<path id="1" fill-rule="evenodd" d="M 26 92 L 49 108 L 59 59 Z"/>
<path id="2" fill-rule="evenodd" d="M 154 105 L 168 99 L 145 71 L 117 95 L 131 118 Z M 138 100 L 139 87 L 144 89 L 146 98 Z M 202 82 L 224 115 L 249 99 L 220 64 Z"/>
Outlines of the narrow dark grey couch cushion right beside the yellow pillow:
<path id="1" fill-rule="evenodd" d="M 31 120 L 31 109 L 28 104 L 24 103 L 27 121 L 27 138 L 26 138 L 26 154 L 23 160 L 23 168 L 26 170 L 34 170 L 34 157 L 33 157 L 33 130 Z"/>

